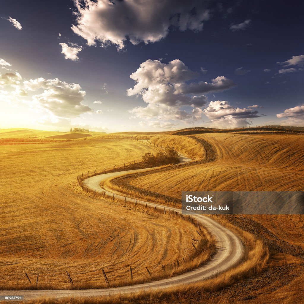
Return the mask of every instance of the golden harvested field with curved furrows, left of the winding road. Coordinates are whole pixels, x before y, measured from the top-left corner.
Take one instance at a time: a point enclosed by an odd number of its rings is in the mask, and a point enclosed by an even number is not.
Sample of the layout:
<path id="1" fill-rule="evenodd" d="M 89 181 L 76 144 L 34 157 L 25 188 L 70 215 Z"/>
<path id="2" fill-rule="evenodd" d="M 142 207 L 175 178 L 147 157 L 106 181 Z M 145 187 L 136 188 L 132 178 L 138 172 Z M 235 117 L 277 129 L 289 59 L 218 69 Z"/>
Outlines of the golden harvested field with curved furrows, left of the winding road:
<path id="1" fill-rule="evenodd" d="M 2 145 L 0 287 L 105 287 L 147 278 L 193 251 L 193 228 L 121 202 L 92 198 L 78 174 L 140 160 L 153 148 L 132 140 L 72 140 Z M 154 151 L 155 152 L 155 151 Z M 195 233 L 195 231 L 194 231 Z M 115 283 L 116 282 L 116 283 Z M 41 287 L 43 288 L 43 287 Z"/>

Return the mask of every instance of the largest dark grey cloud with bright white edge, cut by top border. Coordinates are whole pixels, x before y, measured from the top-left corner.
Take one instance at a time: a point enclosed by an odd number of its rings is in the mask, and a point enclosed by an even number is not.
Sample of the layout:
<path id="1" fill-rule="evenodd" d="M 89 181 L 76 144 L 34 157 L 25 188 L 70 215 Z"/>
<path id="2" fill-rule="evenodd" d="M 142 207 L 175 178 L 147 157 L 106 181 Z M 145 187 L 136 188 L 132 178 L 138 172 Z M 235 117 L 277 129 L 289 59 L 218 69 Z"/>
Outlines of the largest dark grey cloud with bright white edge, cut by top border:
<path id="1" fill-rule="evenodd" d="M 74 0 L 74 5 L 74 33 L 88 45 L 113 44 L 120 50 L 128 39 L 134 45 L 159 41 L 168 35 L 170 26 L 201 31 L 210 18 L 207 1 L 202 0 Z"/>

